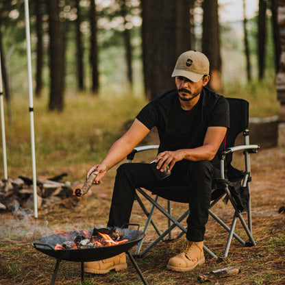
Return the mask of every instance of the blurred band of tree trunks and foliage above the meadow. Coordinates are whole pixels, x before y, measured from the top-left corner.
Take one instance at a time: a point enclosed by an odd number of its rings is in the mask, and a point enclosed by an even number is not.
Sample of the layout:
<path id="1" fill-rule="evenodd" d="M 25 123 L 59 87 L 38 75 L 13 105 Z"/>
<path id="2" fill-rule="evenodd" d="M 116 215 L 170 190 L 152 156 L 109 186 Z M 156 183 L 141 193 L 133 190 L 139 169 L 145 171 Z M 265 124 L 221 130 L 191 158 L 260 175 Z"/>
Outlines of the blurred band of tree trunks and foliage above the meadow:
<path id="1" fill-rule="evenodd" d="M 280 58 L 277 1 L 260 0 L 252 18 L 246 15 L 251 1 L 237 2 L 244 17 L 221 23 L 219 14 L 231 1 L 30 1 L 35 94 L 48 94 L 49 110 L 59 111 L 71 93 L 97 96 L 108 90 L 150 99 L 173 87 L 176 58 L 188 49 L 210 59 L 216 92 L 248 89 L 247 82 L 265 82 L 273 90 Z M 24 1 L 5 1 L 0 9 L 9 102 L 28 88 Z"/>

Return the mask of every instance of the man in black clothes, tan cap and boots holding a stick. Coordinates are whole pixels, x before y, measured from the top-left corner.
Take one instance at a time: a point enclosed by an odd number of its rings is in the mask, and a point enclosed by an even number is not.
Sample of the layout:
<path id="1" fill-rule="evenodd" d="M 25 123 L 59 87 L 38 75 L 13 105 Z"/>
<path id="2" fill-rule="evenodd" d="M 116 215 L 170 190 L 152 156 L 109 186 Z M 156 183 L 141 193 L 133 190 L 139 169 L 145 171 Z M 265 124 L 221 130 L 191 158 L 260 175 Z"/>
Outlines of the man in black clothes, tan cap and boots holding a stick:
<path id="1" fill-rule="evenodd" d="M 209 61 L 198 51 L 179 56 L 172 77 L 177 90 L 158 96 L 143 108 L 129 130 L 117 140 L 100 164 L 92 166 L 99 184 L 112 166 L 121 162 L 154 126 L 160 147 L 156 156 L 159 171 L 171 171 L 158 179 L 148 163 L 122 164 L 117 170 L 108 226 L 129 223 L 135 188 L 186 186 L 190 215 L 187 219 L 186 249 L 171 258 L 167 269 L 189 271 L 205 262 L 203 239 L 208 221 L 212 181 L 219 177 L 216 153 L 221 147 L 230 114 L 227 100 L 208 90 Z M 86 262 L 85 271 L 107 273 L 126 268 L 125 253 L 108 260 Z"/>

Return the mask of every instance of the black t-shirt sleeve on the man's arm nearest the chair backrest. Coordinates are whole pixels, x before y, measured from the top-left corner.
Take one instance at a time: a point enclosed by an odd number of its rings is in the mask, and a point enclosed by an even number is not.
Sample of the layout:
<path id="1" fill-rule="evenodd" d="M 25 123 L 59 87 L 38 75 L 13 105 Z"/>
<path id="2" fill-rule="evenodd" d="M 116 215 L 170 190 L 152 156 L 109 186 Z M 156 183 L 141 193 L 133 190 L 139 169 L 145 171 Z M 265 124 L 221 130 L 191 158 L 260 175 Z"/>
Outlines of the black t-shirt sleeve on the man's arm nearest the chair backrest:
<path id="1" fill-rule="evenodd" d="M 230 106 L 225 97 L 216 101 L 208 127 L 230 127 Z"/>

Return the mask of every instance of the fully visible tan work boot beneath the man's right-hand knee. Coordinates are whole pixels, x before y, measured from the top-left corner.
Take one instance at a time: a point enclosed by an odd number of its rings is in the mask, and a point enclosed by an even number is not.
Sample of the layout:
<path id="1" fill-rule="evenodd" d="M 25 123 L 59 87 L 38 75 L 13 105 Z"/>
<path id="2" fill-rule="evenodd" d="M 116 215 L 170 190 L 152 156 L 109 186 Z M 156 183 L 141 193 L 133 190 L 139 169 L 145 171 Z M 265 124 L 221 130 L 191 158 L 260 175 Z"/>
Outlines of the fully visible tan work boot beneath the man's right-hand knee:
<path id="1" fill-rule="evenodd" d="M 171 258 L 166 268 L 173 271 L 190 271 L 204 262 L 203 241 L 195 243 L 187 240 L 186 249 Z"/>

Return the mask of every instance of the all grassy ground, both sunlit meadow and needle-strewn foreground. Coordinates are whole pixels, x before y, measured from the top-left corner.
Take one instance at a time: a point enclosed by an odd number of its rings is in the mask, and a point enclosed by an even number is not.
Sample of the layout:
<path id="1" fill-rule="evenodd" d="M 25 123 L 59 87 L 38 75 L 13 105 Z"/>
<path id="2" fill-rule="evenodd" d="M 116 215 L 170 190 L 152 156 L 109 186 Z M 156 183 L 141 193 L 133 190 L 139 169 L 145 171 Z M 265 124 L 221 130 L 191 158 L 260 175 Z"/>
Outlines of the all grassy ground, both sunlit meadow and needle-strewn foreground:
<path id="1" fill-rule="evenodd" d="M 252 116 L 276 115 L 275 95 L 269 92 L 271 88 L 268 86 L 265 88 L 262 84 L 264 83 L 251 88 L 245 86 L 244 89 L 238 86 L 236 90 L 239 94 L 243 93 L 243 98 L 253 102 L 250 110 Z M 227 87 L 227 90 L 229 97 L 238 94 L 234 88 Z M 248 93 L 241 92 L 243 90 Z M 251 94 L 250 90 L 263 90 L 263 92 L 256 95 Z M 66 96 L 66 106 L 63 112 L 49 113 L 47 112 L 47 97 L 35 99 L 38 175 L 51 177 L 66 172 L 71 181 L 84 180 L 90 165 L 103 158 L 112 142 L 123 133 L 124 125 L 134 119 L 145 103 L 143 97 L 127 95 L 90 97 L 87 94 L 73 94 Z M 14 97 L 13 122 L 12 125 L 6 127 L 8 175 L 11 177 L 32 176 L 27 105 L 27 99 Z M 282 189 L 285 188 L 285 184 L 282 171 L 285 155 L 282 149 L 260 150 L 254 158 L 257 160 L 252 162 L 252 188 L 253 190 L 259 188 L 252 193 L 253 229 L 258 245 L 245 248 L 234 240 L 226 260 L 212 260 L 206 256 L 205 266 L 188 273 L 172 273 L 165 270 L 166 262 L 182 247 L 183 240 L 160 243 L 147 256 L 136 260 L 149 284 L 197 284 L 197 277 L 200 274 L 232 265 L 239 266 L 241 273 L 234 277 L 213 280 L 208 284 L 212 285 L 216 282 L 227 285 L 284 284 L 284 215 L 278 216 L 274 207 L 279 201 L 284 201 Z M 269 158 L 274 163 L 270 163 Z M 57 227 L 62 230 L 71 230 L 71 225 L 82 229 L 92 228 L 97 223 L 105 224 L 110 207 L 114 172 L 115 169 L 112 169 L 106 175 L 104 183 L 98 186 L 98 190 L 82 197 L 75 204 L 76 206 L 70 205 L 63 208 L 54 205 L 40 208 L 37 220 L 34 220 L 29 212 L 22 210 L 12 213 L 2 212 L 0 284 L 50 284 L 55 259 L 36 251 L 30 243 L 40 236 L 53 234 Z M 3 177 L 3 172 L 0 172 L 0 175 Z M 258 184 L 259 180 L 262 183 Z M 268 185 L 271 180 L 273 184 Z M 276 181 L 278 181 L 278 187 L 276 187 Z M 260 187 L 263 188 L 260 189 Z M 269 190 L 271 190 L 270 195 L 262 198 L 262 195 Z M 176 205 L 173 208 L 177 211 L 181 210 Z M 225 219 L 232 220 L 232 216 L 228 214 L 227 205 L 221 203 L 217 205 L 216 210 L 224 215 Z M 265 214 L 262 214 L 264 211 Z M 270 216 L 267 213 L 270 213 Z M 132 219 L 134 223 L 143 223 L 144 218 L 138 207 L 134 208 Z M 160 223 L 164 221 L 159 221 L 159 225 Z M 237 232 L 241 232 L 240 225 L 237 225 Z M 216 254 L 223 255 L 222 245 L 225 242 L 225 234 L 217 230 L 215 223 L 208 223 L 206 240 Z M 129 260 L 128 265 L 127 271 L 118 273 L 111 272 L 98 276 L 86 274 L 84 284 L 142 284 Z M 81 284 L 80 264 L 62 261 L 55 284 Z"/>

